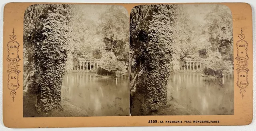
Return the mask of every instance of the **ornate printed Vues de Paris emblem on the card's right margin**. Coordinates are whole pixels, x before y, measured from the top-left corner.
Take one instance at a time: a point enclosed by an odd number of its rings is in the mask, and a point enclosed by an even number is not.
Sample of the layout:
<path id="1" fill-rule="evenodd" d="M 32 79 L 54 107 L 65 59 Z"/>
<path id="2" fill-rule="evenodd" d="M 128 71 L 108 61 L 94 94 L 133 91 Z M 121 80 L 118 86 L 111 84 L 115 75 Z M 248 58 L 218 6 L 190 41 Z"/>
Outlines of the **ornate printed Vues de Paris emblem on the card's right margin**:
<path id="1" fill-rule="evenodd" d="M 237 55 L 236 60 L 238 68 L 237 71 L 237 82 L 236 85 L 240 88 L 240 93 L 242 94 L 242 99 L 244 99 L 244 93 L 246 93 L 246 87 L 248 87 L 248 54 L 247 47 L 248 43 L 244 40 L 245 35 L 243 34 L 243 30 L 241 28 L 241 34 L 238 34 L 238 42 L 236 42 Z"/>

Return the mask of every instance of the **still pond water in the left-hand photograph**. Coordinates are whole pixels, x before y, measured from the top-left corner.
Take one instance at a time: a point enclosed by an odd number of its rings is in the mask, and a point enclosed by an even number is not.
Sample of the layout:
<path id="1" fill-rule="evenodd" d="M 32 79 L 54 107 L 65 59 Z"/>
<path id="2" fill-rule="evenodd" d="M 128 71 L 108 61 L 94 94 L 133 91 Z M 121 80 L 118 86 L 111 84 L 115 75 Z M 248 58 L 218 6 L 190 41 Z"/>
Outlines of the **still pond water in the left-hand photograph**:
<path id="1" fill-rule="evenodd" d="M 62 99 L 86 111 L 88 116 L 126 116 L 130 114 L 128 79 L 67 73 L 62 83 Z"/>

